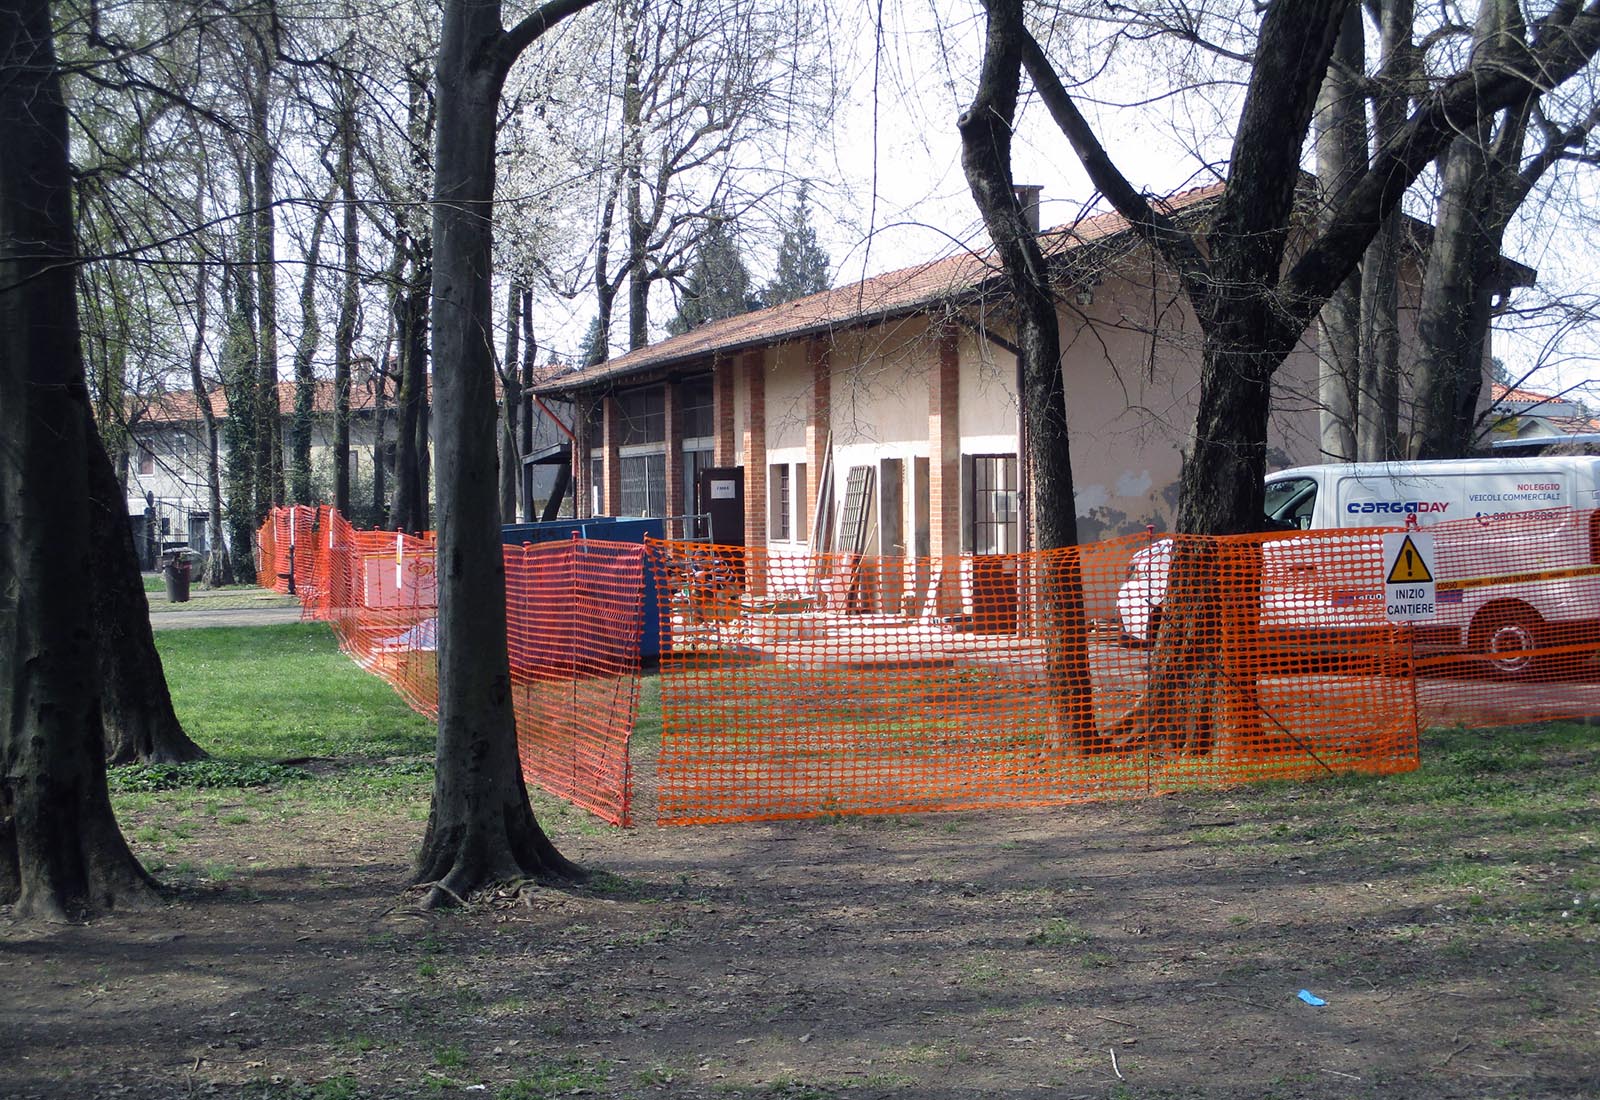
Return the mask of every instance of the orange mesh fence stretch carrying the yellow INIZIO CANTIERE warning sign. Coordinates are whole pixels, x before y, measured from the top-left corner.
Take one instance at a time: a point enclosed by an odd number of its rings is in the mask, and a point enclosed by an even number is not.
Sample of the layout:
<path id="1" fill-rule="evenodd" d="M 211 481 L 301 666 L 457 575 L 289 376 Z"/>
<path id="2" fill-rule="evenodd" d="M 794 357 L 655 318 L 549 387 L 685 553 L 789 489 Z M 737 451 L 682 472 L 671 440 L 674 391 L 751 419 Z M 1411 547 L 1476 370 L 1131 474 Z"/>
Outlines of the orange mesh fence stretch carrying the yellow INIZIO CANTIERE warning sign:
<path id="1" fill-rule="evenodd" d="M 1600 713 L 1594 513 L 1430 528 L 1397 569 L 1403 534 L 949 560 L 654 544 L 661 820 L 1395 772 L 1419 721 Z"/>

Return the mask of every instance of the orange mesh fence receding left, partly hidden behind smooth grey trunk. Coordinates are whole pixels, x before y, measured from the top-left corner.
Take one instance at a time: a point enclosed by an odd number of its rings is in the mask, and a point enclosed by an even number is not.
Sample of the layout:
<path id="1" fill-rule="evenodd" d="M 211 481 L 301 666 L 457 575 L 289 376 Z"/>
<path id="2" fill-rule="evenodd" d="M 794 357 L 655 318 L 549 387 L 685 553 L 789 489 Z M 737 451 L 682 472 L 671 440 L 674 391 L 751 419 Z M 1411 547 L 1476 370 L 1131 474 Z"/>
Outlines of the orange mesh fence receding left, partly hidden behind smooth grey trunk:
<path id="1" fill-rule="evenodd" d="M 259 571 L 328 622 L 341 649 L 438 716 L 435 545 L 355 531 L 331 508 L 275 508 Z M 630 823 L 627 743 L 638 703 L 643 547 L 504 547 L 507 651 L 523 777 L 606 822 Z"/>

